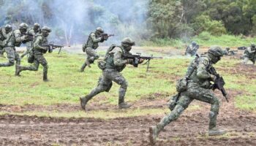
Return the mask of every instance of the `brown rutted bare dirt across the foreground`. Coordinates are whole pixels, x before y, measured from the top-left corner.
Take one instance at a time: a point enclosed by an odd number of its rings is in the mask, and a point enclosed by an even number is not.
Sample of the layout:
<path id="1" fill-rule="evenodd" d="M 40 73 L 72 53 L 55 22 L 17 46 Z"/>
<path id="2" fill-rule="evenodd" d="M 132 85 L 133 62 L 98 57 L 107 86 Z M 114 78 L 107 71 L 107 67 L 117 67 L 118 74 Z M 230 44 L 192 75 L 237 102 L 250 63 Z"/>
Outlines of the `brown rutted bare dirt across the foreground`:
<path id="1" fill-rule="evenodd" d="M 230 91 L 230 102 L 222 98 L 218 126 L 228 133 L 223 137 L 208 137 L 210 105 L 199 101 L 199 110 L 186 110 L 178 120 L 165 127 L 156 145 L 256 145 L 256 115 L 237 110 L 232 96 L 242 94 Z M 157 96 L 157 95 L 154 95 Z M 161 96 L 161 95 L 159 95 Z M 155 103 L 155 106 L 150 106 Z M 157 103 L 157 104 L 156 104 Z M 133 108 L 166 108 L 163 99 L 143 99 Z M 116 110 L 114 106 L 91 104 L 89 110 Z M 58 104 L 48 107 L 1 105 L 0 110 L 20 112 L 37 110 L 80 110 L 79 105 Z M 17 112 L 17 111 L 16 111 Z M 151 145 L 148 127 L 163 115 L 102 120 L 95 118 L 41 118 L 37 116 L 1 115 L 0 145 Z"/>

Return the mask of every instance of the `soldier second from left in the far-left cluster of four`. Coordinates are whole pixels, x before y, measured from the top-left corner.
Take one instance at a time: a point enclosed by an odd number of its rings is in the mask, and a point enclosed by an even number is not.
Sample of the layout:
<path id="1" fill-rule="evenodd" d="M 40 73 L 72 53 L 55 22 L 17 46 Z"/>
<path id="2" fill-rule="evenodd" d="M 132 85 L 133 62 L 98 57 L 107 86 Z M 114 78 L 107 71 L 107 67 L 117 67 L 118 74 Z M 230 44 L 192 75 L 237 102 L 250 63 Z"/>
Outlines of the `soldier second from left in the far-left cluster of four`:
<path id="1" fill-rule="evenodd" d="M 4 39 L 4 51 L 7 53 L 8 62 L 0 63 L 2 66 L 13 66 L 16 61 L 15 75 L 17 75 L 17 66 L 20 64 L 20 56 L 15 50 L 15 47 L 20 47 L 21 43 L 26 41 L 26 30 L 28 25 L 26 23 L 20 23 L 19 29 L 6 32 L 6 39 Z M 7 29 L 8 30 L 8 29 Z"/>

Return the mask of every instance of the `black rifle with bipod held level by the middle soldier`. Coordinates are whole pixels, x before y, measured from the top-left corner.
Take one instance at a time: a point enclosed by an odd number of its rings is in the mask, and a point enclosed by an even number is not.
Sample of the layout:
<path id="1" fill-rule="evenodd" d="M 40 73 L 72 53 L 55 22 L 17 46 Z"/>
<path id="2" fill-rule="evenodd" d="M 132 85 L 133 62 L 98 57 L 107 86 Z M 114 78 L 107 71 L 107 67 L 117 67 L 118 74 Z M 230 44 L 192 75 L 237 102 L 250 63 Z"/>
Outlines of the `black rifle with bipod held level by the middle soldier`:
<path id="1" fill-rule="evenodd" d="M 127 54 L 124 54 L 123 56 L 124 56 L 125 59 L 132 59 L 133 60 L 132 61 L 132 65 L 135 66 L 135 67 L 138 67 L 140 59 L 147 60 L 146 63 L 144 63 L 144 64 L 147 64 L 146 72 L 148 72 L 149 63 L 150 63 L 151 59 L 162 58 L 162 57 L 153 57 L 153 55 L 151 55 L 151 56 L 141 56 L 141 53 L 137 53 L 137 55 L 127 55 Z"/>

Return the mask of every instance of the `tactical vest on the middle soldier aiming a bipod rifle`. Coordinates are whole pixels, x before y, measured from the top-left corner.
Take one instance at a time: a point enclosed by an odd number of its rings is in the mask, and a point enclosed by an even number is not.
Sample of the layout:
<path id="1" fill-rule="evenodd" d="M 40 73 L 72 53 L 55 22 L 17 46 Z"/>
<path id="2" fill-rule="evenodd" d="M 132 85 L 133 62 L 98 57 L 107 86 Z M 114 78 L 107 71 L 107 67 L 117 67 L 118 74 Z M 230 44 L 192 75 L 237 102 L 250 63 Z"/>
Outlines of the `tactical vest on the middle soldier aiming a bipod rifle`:
<path id="1" fill-rule="evenodd" d="M 125 68 L 126 64 L 124 64 L 124 66 L 116 66 L 114 64 L 114 55 L 113 53 L 110 53 L 110 51 L 112 51 L 115 47 L 121 48 L 122 54 L 124 54 L 124 49 L 121 46 L 111 45 L 105 55 L 105 62 L 106 62 L 105 68 L 116 69 L 118 72 L 121 72 Z"/>

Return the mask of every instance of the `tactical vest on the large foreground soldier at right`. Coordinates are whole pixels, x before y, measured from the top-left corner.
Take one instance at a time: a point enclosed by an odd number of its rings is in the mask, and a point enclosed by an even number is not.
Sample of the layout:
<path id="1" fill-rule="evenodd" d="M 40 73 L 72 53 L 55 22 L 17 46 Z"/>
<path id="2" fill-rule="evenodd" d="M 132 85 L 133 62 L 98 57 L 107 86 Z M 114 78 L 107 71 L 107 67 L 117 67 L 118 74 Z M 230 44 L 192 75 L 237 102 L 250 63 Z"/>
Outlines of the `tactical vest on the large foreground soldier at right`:
<path id="1" fill-rule="evenodd" d="M 189 65 L 186 75 L 188 76 L 190 74 L 189 80 L 191 80 L 192 82 L 196 82 L 198 85 L 200 85 L 203 88 L 208 88 L 210 86 L 210 81 L 206 79 L 200 79 L 199 77 L 197 77 L 197 66 L 199 64 L 200 59 L 202 58 L 208 58 L 208 56 L 202 55 L 198 58 L 195 58 L 195 60 L 192 61 L 192 63 Z M 208 69 L 210 66 L 211 64 L 208 64 L 206 69 Z"/>

